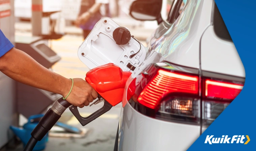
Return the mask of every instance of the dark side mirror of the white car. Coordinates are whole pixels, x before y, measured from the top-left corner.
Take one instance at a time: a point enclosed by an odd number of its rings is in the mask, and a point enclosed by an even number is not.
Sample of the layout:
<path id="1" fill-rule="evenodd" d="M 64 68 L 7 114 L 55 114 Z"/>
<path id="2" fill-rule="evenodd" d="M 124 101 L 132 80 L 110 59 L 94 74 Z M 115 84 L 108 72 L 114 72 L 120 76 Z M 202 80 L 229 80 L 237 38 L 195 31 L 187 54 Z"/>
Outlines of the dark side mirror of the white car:
<path id="1" fill-rule="evenodd" d="M 137 20 L 163 21 L 161 16 L 162 0 L 136 0 L 131 4 L 130 15 Z"/>

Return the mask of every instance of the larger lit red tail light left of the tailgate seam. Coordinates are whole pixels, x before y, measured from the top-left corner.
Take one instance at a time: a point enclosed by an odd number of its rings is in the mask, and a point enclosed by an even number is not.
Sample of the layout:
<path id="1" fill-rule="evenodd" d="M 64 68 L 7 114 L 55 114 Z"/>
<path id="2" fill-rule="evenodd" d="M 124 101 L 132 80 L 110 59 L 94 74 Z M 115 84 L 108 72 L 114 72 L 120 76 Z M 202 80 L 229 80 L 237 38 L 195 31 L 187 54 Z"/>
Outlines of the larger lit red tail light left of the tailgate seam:
<path id="1" fill-rule="evenodd" d="M 130 104 L 157 119 L 199 124 L 198 71 L 188 73 L 170 67 L 168 63 L 152 64 L 138 75 Z"/>

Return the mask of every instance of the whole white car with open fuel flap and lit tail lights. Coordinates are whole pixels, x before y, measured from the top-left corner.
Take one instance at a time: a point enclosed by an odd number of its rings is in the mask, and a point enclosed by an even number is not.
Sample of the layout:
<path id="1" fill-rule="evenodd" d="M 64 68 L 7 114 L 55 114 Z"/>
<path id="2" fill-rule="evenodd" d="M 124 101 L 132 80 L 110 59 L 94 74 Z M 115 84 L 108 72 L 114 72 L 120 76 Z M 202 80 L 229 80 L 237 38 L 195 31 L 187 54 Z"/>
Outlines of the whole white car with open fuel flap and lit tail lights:
<path id="1" fill-rule="evenodd" d="M 244 66 L 214 0 L 172 0 L 167 19 L 161 6 L 161 0 L 131 5 L 132 17 L 159 23 L 147 47 L 134 38 L 118 45 L 113 32 L 120 26 L 105 17 L 78 50 L 89 68 L 114 63 L 132 72 L 115 151 L 188 149 L 245 82 Z"/>

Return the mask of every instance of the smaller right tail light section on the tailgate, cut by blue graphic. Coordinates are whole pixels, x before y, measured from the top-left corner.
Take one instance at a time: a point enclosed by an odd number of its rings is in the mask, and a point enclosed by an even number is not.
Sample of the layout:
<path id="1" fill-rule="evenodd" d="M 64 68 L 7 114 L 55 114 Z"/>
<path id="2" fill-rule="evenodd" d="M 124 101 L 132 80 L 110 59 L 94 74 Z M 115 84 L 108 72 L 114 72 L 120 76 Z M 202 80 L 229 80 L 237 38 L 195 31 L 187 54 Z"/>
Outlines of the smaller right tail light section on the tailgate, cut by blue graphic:
<path id="1" fill-rule="evenodd" d="M 203 79 L 202 125 L 208 127 L 242 91 L 244 84 L 212 78 Z"/>

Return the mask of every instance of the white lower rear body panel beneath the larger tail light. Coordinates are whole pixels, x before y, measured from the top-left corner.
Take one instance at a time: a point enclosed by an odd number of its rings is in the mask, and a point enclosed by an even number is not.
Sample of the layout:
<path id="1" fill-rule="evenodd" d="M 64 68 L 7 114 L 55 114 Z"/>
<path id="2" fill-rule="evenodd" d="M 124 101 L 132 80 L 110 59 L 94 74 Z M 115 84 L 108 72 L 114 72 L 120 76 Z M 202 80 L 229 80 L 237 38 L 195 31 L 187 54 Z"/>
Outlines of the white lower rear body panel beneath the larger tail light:
<path id="1" fill-rule="evenodd" d="M 199 125 L 159 121 L 134 110 L 123 108 L 119 151 L 187 150 L 200 136 Z"/>

